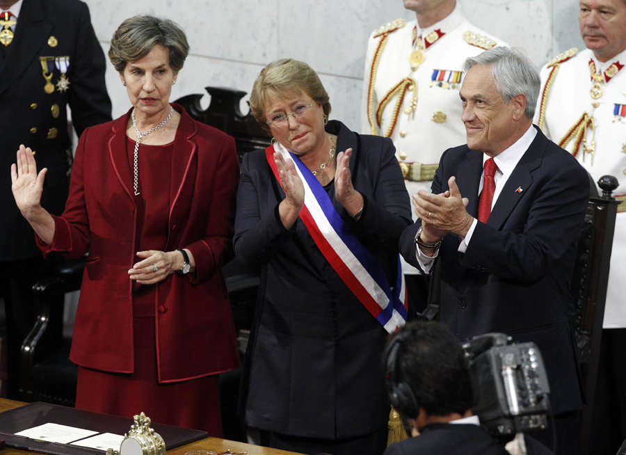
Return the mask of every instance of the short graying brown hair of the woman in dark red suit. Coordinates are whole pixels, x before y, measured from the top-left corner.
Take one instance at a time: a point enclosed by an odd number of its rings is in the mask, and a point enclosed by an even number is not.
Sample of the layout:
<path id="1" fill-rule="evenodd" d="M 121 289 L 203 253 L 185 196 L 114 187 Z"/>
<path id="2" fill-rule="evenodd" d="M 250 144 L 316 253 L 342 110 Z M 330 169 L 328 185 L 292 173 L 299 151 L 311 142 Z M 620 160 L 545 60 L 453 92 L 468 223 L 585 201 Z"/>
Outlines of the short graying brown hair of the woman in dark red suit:
<path id="1" fill-rule="evenodd" d="M 151 15 L 129 17 L 113 33 L 109 59 L 115 70 L 123 72 L 127 63 L 135 63 L 150 54 L 155 45 L 170 51 L 170 66 L 182 70 L 189 54 L 187 37 L 175 22 Z"/>

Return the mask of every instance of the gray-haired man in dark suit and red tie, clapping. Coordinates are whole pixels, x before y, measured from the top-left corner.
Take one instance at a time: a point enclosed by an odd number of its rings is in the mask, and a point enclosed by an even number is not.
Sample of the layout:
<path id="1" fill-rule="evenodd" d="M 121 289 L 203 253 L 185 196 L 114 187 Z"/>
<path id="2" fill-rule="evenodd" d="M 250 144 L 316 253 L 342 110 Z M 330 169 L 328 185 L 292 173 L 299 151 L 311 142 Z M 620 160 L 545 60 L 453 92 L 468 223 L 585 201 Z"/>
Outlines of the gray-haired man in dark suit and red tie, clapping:
<path id="1" fill-rule="evenodd" d="M 588 177 L 533 127 L 540 81 L 527 58 L 495 47 L 465 71 L 467 145 L 444 152 L 432 193 L 412 196 L 420 220 L 401 253 L 427 273 L 442 261 L 440 320 L 459 340 L 502 332 L 538 344 L 567 453 L 582 405 L 569 288 Z"/>

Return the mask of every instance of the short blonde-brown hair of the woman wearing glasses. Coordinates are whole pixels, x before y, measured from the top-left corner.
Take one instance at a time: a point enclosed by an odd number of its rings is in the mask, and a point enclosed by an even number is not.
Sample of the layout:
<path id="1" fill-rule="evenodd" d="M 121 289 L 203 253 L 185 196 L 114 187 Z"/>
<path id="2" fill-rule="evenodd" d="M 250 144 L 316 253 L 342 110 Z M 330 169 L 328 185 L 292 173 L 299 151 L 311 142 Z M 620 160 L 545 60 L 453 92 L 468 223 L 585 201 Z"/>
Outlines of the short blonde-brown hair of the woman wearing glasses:
<path id="1" fill-rule="evenodd" d="M 324 114 L 330 114 L 330 98 L 317 73 L 304 62 L 281 58 L 261 70 L 250 93 L 250 111 L 266 131 L 270 131 L 265 117 L 268 97 L 294 91 L 310 95 Z"/>

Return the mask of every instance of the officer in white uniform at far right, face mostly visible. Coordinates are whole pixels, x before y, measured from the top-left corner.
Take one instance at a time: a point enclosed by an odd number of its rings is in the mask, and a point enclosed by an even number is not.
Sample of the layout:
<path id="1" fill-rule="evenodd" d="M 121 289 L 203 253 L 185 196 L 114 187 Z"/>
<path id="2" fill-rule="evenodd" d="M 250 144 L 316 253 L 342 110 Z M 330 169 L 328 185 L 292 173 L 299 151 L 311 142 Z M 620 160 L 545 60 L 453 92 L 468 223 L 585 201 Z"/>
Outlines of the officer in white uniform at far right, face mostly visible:
<path id="1" fill-rule="evenodd" d="M 577 157 L 595 182 L 602 175 L 617 177 L 620 186 L 613 195 L 625 201 L 626 2 L 582 0 L 579 25 L 587 49 L 569 49 L 542 68 L 535 122 L 546 136 Z M 594 404 L 596 420 L 601 423 L 598 431 L 616 427 L 613 434 L 595 438 L 596 453 L 615 453 L 626 438 L 625 263 L 626 202 L 622 202 L 618 205 L 604 310 L 604 329 L 609 330 L 602 334 L 601 359 L 604 355 L 612 357 L 604 362 L 612 371 L 600 372 Z M 605 373 L 619 383 L 617 390 L 602 385 Z M 602 394 L 608 394 L 604 402 Z M 603 409 L 607 405 L 609 409 Z M 598 445 L 605 445 L 607 452 Z"/>

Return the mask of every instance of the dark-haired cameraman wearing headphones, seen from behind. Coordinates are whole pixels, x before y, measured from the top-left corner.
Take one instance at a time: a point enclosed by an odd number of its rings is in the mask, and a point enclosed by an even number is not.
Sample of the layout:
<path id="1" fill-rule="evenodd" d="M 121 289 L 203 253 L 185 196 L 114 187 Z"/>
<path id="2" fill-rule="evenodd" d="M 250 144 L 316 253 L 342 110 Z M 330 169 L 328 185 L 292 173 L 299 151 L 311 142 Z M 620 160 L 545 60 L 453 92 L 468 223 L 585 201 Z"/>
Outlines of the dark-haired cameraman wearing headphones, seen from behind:
<path id="1" fill-rule="evenodd" d="M 472 415 L 470 370 L 449 328 L 433 321 L 407 324 L 388 344 L 385 367 L 391 404 L 410 426 L 407 433 L 417 437 L 390 445 L 384 455 L 509 455 Z M 531 438 L 520 445 L 521 453 L 552 454 Z"/>

